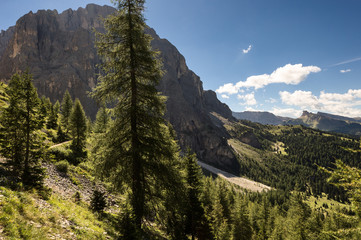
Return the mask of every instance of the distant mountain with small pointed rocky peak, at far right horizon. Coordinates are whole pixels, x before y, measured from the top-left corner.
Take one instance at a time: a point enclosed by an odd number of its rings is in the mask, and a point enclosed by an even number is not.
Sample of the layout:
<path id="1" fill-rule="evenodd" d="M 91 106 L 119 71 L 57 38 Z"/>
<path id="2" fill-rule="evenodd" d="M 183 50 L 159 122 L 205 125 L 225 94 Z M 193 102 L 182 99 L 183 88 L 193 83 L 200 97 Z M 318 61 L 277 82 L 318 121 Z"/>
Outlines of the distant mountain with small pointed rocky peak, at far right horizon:
<path id="1" fill-rule="evenodd" d="M 285 122 L 285 124 L 300 124 L 323 131 L 345 133 L 350 135 L 361 135 L 360 120 L 322 112 L 314 114 L 303 111 L 299 118 L 288 120 Z"/>

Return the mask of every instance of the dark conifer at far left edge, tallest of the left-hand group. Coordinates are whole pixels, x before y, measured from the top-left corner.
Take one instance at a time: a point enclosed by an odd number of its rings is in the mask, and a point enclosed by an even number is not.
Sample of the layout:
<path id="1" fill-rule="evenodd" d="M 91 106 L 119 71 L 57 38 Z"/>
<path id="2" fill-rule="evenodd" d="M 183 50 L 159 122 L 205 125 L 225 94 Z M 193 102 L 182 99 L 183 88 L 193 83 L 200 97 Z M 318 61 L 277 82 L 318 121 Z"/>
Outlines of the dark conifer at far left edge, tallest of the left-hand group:
<path id="1" fill-rule="evenodd" d="M 40 133 L 43 116 L 40 100 L 28 72 L 12 76 L 6 94 L 8 106 L 3 109 L 0 122 L 0 153 L 15 181 L 25 186 L 41 186 L 44 177 L 40 160 L 44 157 L 44 137 Z"/>

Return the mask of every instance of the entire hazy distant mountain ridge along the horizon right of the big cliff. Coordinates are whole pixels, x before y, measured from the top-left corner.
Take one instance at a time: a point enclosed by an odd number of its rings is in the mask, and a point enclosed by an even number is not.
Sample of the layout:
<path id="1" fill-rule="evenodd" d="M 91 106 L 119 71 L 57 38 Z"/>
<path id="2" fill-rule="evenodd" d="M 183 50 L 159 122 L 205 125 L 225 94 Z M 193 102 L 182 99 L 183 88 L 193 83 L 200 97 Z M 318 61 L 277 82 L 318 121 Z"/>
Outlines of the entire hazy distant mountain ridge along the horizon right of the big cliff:
<path id="1" fill-rule="evenodd" d="M 261 124 L 270 125 L 303 125 L 322 131 L 361 135 L 361 119 L 350 118 L 329 113 L 311 113 L 303 111 L 299 118 L 292 119 L 276 116 L 270 112 L 233 112 L 233 116 L 239 120 L 248 120 Z"/>

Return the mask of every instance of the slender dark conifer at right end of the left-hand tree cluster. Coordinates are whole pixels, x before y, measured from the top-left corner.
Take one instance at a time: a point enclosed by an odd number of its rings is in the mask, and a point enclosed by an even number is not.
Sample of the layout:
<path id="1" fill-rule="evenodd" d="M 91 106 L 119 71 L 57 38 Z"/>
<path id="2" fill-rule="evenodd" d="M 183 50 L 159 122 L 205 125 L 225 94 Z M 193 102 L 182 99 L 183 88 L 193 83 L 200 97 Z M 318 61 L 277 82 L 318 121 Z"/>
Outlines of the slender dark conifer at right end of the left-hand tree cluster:
<path id="1" fill-rule="evenodd" d="M 87 133 L 87 118 L 79 99 L 75 104 L 69 116 L 69 128 L 72 137 L 71 150 L 74 155 L 74 163 L 79 163 L 80 159 L 86 156 L 85 140 Z"/>

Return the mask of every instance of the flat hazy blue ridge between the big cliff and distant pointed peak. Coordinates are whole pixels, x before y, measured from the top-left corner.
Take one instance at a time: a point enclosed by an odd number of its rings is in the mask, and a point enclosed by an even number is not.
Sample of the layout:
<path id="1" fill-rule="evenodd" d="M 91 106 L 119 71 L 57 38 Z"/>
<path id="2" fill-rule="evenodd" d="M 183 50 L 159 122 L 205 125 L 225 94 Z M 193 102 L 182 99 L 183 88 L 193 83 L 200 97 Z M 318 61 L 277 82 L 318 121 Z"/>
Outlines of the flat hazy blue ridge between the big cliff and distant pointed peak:
<path id="1" fill-rule="evenodd" d="M 291 119 L 287 117 L 276 116 L 270 112 L 244 111 L 244 112 L 232 112 L 232 115 L 239 120 L 248 120 L 251 122 L 270 124 L 270 125 L 281 125 L 285 121 Z"/>

